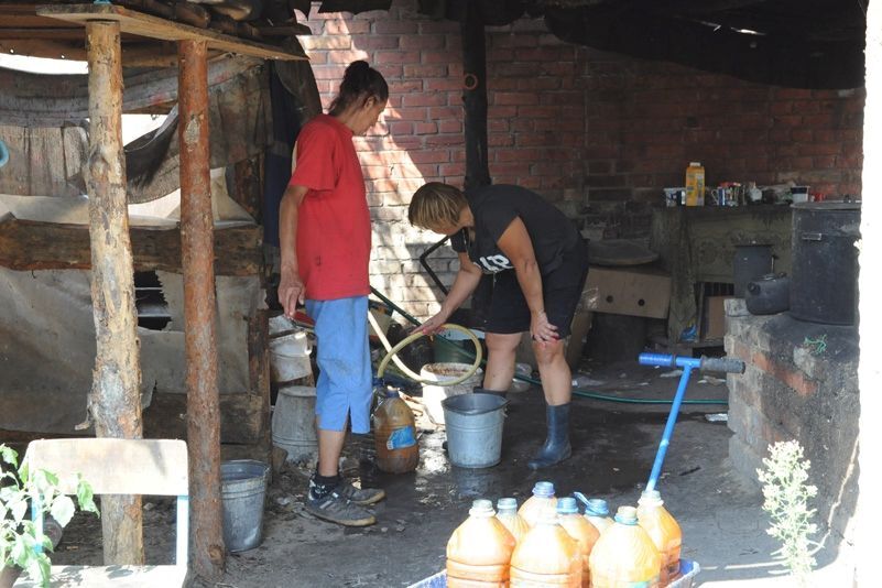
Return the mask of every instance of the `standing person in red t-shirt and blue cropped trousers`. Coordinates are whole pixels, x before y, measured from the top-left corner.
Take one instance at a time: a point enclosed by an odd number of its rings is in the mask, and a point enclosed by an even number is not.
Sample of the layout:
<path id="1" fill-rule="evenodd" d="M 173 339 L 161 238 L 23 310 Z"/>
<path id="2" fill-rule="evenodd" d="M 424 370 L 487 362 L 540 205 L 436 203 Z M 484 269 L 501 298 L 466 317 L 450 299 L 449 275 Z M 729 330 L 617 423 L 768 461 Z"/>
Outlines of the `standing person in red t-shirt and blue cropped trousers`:
<path id="1" fill-rule="evenodd" d="M 385 497 L 355 488 L 338 471 L 347 422 L 370 432 L 371 364 L 368 347 L 368 262 L 371 226 L 364 177 L 352 137 L 373 127 L 389 99 L 379 72 L 366 62 L 346 69 L 328 115 L 297 138 L 296 167 L 282 197 L 279 302 L 294 316 L 297 303 L 315 320 L 318 464 L 306 509 L 335 523 L 373 524 L 363 507 Z"/>

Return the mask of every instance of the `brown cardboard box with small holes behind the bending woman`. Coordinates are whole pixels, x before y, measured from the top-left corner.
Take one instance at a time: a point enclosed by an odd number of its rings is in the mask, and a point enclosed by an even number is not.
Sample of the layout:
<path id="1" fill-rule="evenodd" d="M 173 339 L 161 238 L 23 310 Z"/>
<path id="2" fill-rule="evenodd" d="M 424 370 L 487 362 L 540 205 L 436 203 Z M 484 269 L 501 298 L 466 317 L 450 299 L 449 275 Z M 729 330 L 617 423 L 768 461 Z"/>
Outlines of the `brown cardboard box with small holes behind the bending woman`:
<path id="1" fill-rule="evenodd" d="M 597 313 L 666 318 L 671 276 L 649 270 L 592 266 L 581 307 Z"/>

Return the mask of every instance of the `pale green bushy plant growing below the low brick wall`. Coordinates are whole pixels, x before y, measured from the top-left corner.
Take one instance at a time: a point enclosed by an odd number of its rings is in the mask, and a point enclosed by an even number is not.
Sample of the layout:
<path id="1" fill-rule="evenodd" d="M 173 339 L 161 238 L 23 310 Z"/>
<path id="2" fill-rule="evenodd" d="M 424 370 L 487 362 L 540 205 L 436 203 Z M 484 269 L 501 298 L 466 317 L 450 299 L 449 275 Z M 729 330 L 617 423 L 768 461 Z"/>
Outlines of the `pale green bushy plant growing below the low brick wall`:
<path id="1" fill-rule="evenodd" d="M 809 538 L 817 532 L 812 522 L 815 509 L 808 508 L 808 499 L 818 489 L 806 483 L 812 464 L 803 459 L 803 447 L 796 440 L 771 445 L 769 455 L 763 459 L 765 469 L 756 470 L 763 484 L 763 510 L 772 520 L 766 532 L 781 542 L 775 555 L 784 559 L 791 574 L 805 586 L 815 566 L 813 553 L 817 545 Z"/>

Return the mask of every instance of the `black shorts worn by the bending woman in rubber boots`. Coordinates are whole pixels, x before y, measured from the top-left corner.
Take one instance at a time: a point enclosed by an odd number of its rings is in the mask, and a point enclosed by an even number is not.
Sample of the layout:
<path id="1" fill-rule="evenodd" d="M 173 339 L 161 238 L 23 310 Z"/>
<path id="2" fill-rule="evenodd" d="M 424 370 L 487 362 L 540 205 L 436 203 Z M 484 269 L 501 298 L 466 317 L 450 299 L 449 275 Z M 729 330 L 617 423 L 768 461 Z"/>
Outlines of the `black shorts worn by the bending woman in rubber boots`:
<path id="1" fill-rule="evenodd" d="M 588 276 L 588 253 L 579 247 L 564 254 L 563 263 L 542 276 L 542 298 L 548 323 L 563 339 L 581 298 Z M 530 307 L 514 270 L 493 274 L 493 294 L 487 318 L 487 333 L 512 334 L 530 330 Z"/>

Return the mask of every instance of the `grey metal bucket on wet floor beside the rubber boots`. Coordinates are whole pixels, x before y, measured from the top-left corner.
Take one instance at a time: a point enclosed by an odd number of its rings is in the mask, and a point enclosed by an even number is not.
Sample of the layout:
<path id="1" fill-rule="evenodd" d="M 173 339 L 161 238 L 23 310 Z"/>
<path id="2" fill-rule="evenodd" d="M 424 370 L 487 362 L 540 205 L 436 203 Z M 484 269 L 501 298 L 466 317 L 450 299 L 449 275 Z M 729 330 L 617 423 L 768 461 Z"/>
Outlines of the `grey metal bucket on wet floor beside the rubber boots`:
<path id="1" fill-rule="evenodd" d="M 489 468 L 502 454 L 508 400 L 497 394 L 462 394 L 442 402 L 447 423 L 447 455 L 460 468 Z"/>

